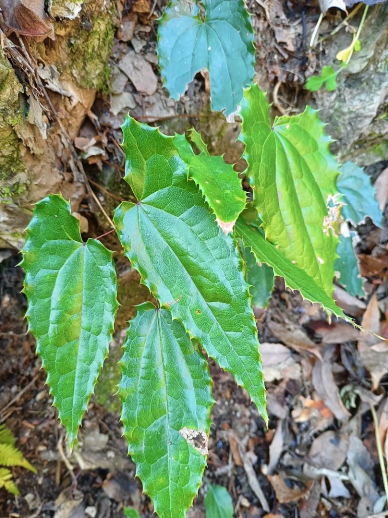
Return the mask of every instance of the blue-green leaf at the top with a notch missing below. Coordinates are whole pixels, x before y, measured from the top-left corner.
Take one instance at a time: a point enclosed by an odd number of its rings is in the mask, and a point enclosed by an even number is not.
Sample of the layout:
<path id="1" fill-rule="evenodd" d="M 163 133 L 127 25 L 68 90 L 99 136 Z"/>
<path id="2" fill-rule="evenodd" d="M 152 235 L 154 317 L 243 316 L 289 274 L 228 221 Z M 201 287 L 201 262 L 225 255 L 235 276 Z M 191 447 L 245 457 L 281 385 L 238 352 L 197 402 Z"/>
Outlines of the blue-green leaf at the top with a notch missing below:
<path id="1" fill-rule="evenodd" d="M 172 0 L 158 28 L 160 73 L 173 99 L 202 69 L 210 73 L 212 110 L 235 111 L 255 74 L 253 30 L 244 0 Z"/>

